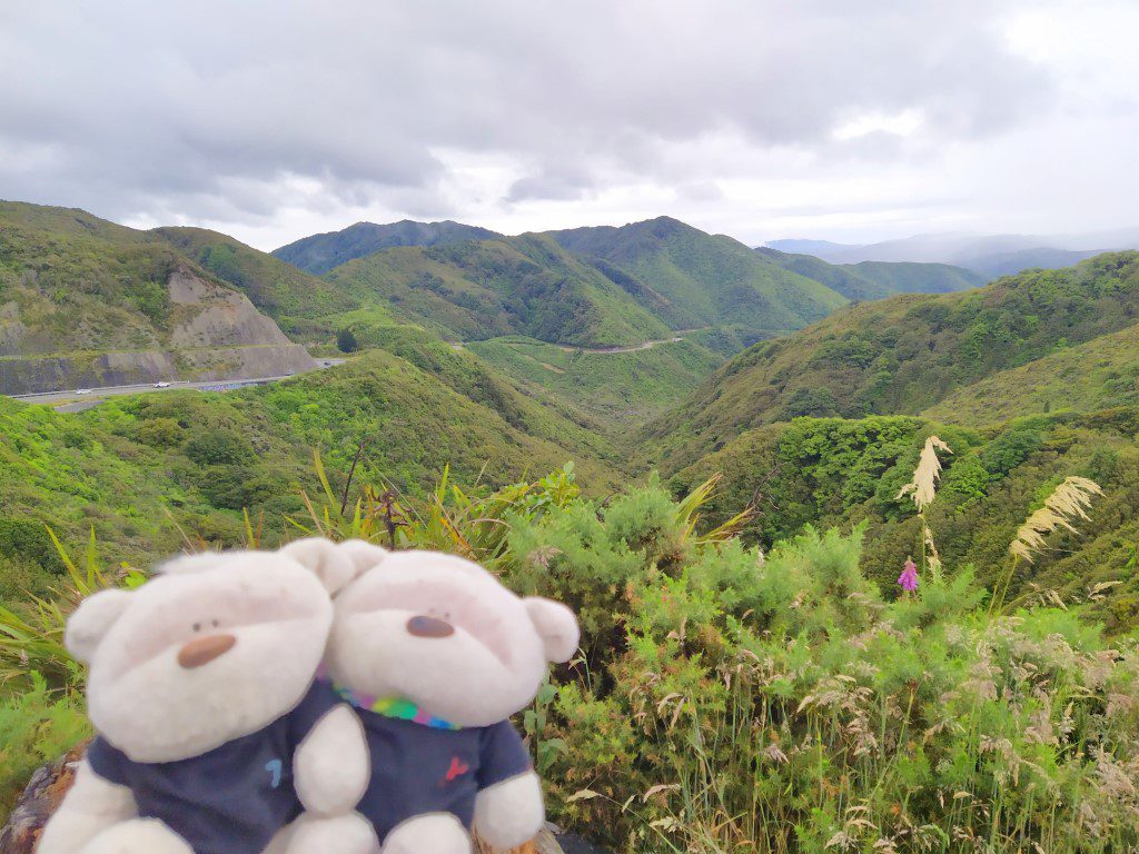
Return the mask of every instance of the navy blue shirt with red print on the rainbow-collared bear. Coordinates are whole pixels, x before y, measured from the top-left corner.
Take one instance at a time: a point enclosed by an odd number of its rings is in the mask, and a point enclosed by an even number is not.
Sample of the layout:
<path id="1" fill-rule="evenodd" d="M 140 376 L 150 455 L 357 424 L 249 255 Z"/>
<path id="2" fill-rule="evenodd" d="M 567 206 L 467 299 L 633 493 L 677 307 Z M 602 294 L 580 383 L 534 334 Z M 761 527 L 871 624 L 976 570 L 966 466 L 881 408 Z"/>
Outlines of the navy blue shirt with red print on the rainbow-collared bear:
<path id="1" fill-rule="evenodd" d="M 456 815 L 468 829 L 480 789 L 530 771 L 530 754 L 509 721 L 442 730 L 357 708 L 371 753 L 371 782 L 357 807 L 380 843 L 423 813 Z"/>

